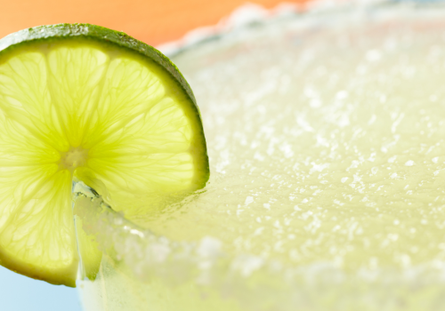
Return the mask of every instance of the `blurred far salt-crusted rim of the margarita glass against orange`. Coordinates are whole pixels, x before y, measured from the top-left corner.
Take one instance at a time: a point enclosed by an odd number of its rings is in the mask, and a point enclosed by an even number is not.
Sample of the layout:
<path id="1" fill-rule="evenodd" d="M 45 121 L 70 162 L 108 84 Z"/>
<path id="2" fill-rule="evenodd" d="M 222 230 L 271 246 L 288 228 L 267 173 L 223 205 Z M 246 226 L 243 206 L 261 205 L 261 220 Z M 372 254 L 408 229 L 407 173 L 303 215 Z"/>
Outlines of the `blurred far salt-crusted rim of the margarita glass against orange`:
<path id="1" fill-rule="evenodd" d="M 214 26 L 190 30 L 182 38 L 159 44 L 156 48 L 173 58 L 200 45 L 220 40 L 224 36 L 231 36 L 249 28 L 273 25 L 287 19 L 313 19 L 344 13 L 366 17 L 368 14 L 382 11 L 397 14 L 401 9 L 406 9 L 407 12 L 423 9 L 424 13 L 434 14 L 438 8 L 445 8 L 445 0 L 344 0 L 334 3 L 329 0 L 313 0 L 306 3 L 304 8 L 298 4 L 284 2 L 271 9 L 265 9 L 260 4 L 244 4 Z"/>

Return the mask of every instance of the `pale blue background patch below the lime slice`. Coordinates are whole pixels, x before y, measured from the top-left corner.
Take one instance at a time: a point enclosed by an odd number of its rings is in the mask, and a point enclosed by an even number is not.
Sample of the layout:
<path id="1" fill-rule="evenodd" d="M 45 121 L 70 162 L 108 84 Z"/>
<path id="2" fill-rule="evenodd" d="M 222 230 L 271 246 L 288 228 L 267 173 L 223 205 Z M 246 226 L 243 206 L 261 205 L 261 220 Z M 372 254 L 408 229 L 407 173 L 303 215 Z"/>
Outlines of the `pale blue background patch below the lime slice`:
<path id="1" fill-rule="evenodd" d="M 80 311 L 77 289 L 55 286 L 0 266 L 0 310 Z"/>

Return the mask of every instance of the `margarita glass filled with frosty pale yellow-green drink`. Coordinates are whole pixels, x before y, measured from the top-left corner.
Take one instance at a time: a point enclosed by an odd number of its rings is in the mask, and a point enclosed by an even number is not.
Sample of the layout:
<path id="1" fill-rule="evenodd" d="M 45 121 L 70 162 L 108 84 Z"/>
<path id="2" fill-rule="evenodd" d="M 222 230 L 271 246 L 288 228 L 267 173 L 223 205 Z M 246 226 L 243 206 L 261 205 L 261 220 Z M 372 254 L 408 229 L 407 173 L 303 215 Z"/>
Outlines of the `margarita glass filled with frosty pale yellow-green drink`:
<path id="1" fill-rule="evenodd" d="M 444 18 L 347 4 L 175 52 L 210 180 L 132 219 L 76 185 L 85 310 L 444 308 Z"/>

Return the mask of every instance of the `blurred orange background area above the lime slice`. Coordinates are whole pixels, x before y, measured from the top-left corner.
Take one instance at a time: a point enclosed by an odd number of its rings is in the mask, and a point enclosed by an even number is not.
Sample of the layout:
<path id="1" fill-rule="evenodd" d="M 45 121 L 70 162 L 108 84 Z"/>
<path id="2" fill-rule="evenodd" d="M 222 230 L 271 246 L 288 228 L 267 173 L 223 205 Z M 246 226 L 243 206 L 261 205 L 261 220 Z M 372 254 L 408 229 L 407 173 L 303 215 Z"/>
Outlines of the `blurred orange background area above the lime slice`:
<path id="1" fill-rule="evenodd" d="M 306 0 L 287 1 L 303 4 Z M 250 0 L 273 8 L 279 0 Z M 85 22 L 124 31 L 151 45 L 214 25 L 242 0 L 0 0 L 0 37 L 44 24 Z"/>

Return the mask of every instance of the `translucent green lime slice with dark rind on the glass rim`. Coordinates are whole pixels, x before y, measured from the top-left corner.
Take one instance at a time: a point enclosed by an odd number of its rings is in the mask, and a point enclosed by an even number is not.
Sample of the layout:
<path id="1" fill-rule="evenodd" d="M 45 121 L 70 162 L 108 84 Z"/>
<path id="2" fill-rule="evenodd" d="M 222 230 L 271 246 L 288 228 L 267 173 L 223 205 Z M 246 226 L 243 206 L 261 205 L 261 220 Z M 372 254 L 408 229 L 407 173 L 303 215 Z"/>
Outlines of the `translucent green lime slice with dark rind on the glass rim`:
<path id="1" fill-rule="evenodd" d="M 73 180 L 136 217 L 204 187 L 208 175 L 190 86 L 153 47 L 87 24 L 0 40 L 4 267 L 76 286 Z"/>

